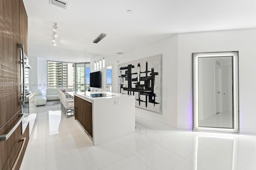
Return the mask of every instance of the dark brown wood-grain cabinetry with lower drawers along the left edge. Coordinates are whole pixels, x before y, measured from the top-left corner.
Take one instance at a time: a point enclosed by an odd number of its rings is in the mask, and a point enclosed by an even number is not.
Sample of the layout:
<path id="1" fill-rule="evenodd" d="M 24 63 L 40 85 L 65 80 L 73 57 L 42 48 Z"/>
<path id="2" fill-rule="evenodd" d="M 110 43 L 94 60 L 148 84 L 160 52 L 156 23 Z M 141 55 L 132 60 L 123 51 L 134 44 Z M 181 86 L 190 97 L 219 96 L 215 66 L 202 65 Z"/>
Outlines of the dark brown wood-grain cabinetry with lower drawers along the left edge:
<path id="1" fill-rule="evenodd" d="M 0 135 L 7 134 L 20 120 L 20 49 L 23 43 L 28 54 L 28 17 L 22 0 L 0 0 Z M 29 126 L 22 135 L 21 124 L 6 141 L 0 141 L 0 170 L 15 169 L 20 164 L 29 138 Z"/>

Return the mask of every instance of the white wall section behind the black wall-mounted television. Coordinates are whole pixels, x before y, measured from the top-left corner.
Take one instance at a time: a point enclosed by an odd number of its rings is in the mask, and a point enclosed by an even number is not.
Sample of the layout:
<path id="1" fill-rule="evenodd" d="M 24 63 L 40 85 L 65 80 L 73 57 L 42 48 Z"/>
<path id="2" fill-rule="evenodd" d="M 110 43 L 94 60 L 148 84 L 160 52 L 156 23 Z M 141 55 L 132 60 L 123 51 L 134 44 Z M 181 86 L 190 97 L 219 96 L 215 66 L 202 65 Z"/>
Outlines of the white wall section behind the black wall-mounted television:
<path id="1" fill-rule="evenodd" d="M 94 70 L 94 61 L 99 61 L 100 59 L 102 60 L 103 57 L 105 58 L 105 68 L 99 67 L 99 70 Z M 106 85 L 107 85 L 107 79 L 106 79 L 106 67 L 107 66 L 112 66 L 112 92 L 117 93 L 118 91 L 118 79 L 116 78 L 118 76 L 118 68 L 117 68 L 117 57 L 112 57 L 112 56 L 106 56 L 106 55 L 100 55 L 98 57 L 93 58 L 90 61 L 90 66 L 91 66 L 91 72 L 96 72 L 100 71 L 101 72 L 101 88 L 96 88 L 97 90 L 102 89 L 102 90 L 107 90 Z M 93 88 L 91 88 L 93 89 Z"/>

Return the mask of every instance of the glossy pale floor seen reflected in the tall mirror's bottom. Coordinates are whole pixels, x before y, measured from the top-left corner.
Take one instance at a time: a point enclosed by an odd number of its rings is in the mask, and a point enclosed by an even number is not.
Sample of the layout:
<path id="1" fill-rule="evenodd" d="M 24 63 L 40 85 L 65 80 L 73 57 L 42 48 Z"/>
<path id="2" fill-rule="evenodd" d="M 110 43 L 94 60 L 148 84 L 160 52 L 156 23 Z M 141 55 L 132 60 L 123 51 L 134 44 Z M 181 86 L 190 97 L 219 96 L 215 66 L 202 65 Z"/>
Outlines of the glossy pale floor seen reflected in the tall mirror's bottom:
<path id="1" fill-rule="evenodd" d="M 209 117 L 204 120 L 199 120 L 199 126 L 233 128 L 232 111 L 225 111 L 223 113 L 217 113 L 215 116 Z"/>

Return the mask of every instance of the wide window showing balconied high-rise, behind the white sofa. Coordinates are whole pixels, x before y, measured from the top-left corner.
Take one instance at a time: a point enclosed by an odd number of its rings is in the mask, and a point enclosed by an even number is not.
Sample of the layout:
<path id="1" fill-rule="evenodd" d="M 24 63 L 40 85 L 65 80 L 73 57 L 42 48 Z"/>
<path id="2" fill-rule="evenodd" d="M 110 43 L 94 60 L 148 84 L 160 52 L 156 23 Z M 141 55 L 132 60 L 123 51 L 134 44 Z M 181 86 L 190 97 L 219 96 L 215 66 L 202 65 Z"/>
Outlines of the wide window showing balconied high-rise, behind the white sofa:
<path id="1" fill-rule="evenodd" d="M 47 61 L 48 88 L 74 89 L 74 63 Z"/>

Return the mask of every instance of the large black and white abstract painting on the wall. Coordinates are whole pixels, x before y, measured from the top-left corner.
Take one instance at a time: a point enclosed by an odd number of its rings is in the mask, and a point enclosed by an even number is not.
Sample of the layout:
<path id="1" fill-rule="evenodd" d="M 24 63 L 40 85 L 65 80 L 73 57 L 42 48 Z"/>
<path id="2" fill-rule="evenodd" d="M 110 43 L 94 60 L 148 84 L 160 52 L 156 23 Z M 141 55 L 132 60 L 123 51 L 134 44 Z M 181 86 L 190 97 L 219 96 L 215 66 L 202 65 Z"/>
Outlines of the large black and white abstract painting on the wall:
<path id="1" fill-rule="evenodd" d="M 135 106 L 161 113 L 162 55 L 118 65 L 119 92 L 135 96 Z"/>

